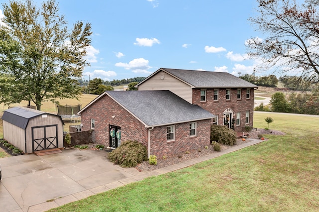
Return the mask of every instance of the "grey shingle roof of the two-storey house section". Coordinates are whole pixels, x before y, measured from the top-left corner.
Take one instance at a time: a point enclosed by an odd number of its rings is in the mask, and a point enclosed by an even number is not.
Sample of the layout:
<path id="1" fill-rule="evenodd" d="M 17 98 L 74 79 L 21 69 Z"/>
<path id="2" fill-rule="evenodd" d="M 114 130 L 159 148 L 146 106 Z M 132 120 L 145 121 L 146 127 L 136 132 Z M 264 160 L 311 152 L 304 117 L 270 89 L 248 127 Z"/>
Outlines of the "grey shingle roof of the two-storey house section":
<path id="1" fill-rule="evenodd" d="M 196 71 L 184 69 L 160 68 L 155 73 L 140 82 L 136 87 L 149 78 L 163 71 L 176 79 L 188 84 L 191 88 L 257 88 L 258 86 L 247 82 L 227 72 Z"/>

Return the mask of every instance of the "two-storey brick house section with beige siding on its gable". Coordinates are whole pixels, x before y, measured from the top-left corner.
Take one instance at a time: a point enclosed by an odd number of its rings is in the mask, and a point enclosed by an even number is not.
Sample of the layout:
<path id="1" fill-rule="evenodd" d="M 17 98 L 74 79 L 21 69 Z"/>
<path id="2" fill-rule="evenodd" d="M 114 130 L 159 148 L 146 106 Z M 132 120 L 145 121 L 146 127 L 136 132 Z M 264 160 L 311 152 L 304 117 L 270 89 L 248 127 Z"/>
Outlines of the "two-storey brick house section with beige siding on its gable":
<path id="1" fill-rule="evenodd" d="M 258 87 L 229 73 L 160 68 L 136 87 L 139 91 L 169 90 L 216 115 L 212 123 L 233 126 L 237 132 L 253 126 Z"/>

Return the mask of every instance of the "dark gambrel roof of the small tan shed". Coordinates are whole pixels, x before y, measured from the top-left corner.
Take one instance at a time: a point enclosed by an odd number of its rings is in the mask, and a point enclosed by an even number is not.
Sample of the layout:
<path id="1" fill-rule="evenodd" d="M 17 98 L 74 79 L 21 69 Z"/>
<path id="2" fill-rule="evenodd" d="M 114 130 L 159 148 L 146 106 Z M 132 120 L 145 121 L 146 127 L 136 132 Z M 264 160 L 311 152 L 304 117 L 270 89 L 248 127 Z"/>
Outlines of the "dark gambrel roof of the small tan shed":
<path id="1" fill-rule="evenodd" d="M 12 107 L 10 109 L 4 110 L 2 115 L 2 120 L 9 122 L 15 126 L 18 126 L 22 129 L 25 129 L 30 119 L 43 114 L 56 115 L 56 114 L 51 114 L 51 113 L 43 112 L 36 109 L 16 106 L 16 107 Z M 59 116 L 63 123 L 61 116 L 60 115 L 56 115 L 56 116 Z"/>

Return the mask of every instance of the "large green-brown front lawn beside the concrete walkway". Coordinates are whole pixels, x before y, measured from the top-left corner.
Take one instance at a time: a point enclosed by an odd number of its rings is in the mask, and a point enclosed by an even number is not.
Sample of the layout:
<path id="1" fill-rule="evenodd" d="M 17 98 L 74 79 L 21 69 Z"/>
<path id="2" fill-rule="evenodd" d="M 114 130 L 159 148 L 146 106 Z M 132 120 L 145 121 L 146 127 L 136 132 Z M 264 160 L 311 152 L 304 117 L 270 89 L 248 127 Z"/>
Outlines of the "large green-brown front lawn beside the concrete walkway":
<path id="1" fill-rule="evenodd" d="M 319 211 L 319 118 L 254 113 L 254 127 L 287 134 L 54 212 Z"/>

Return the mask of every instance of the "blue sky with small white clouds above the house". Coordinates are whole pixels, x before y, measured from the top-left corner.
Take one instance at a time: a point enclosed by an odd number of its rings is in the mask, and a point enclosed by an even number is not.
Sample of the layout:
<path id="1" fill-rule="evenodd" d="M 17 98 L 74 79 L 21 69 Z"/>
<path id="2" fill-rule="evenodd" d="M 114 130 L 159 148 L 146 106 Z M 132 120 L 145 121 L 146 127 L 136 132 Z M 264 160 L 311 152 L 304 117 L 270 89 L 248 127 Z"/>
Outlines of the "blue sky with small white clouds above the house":
<path id="1" fill-rule="evenodd" d="M 245 47 L 262 38 L 248 21 L 256 0 L 56 1 L 70 28 L 78 20 L 92 25 L 83 79 L 147 77 L 161 67 L 238 76 L 259 63 L 247 59 Z"/>

